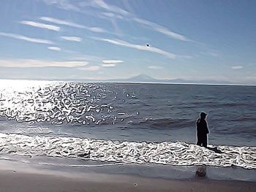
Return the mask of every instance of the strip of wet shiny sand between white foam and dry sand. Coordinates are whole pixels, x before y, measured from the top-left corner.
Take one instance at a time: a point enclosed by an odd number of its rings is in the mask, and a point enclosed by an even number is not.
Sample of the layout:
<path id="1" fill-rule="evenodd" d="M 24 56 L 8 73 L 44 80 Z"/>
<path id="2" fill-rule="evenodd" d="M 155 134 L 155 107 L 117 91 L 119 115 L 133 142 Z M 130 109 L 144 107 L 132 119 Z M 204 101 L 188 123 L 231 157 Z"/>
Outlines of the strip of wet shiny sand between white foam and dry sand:
<path id="1" fill-rule="evenodd" d="M 114 161 L 95 161 L 83 158 L 64 158 L 50 156 L 0 155 L 1 170 L 19 170 L 39 174 L 73 175 L 90 174 L 127 174 L 139 177 L 165 180 L 195 180 L 197 174 L 204 172 L 200 180 L 238 180 L 255 182 L 255 169 L 244 169 L 239 166 L 178 166 L 165 164 L 127 164 Z"/>

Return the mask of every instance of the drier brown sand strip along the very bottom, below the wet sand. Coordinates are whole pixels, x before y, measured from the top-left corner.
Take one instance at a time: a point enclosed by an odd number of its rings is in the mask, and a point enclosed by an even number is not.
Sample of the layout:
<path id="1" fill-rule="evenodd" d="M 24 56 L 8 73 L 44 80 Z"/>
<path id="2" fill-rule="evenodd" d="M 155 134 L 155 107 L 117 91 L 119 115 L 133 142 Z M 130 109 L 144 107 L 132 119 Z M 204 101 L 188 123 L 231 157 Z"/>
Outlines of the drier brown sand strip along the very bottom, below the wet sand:
<path id="1" fill-rule="evenodd" d="M 1 171 L 1 191 L 255 191 L 256 183 L 219 180 L 162 180 L 129 175 L 67 177 Z"/>

